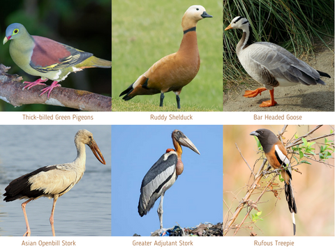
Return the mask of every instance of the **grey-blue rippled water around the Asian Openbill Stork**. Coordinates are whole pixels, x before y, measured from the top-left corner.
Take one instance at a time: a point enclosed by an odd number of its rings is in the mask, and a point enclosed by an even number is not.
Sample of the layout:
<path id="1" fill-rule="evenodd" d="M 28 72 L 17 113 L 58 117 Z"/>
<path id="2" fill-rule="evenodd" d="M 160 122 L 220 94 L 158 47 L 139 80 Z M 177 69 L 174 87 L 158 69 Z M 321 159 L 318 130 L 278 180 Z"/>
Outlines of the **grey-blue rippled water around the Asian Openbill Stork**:
<path id="1" fill-rule="evenodd" d="M 110 236 L 110 126 L 0 126 L 0 236 L 22 236 L 26 231 L 21 208 L 24 200 L 3 201 L 6 186 L 39 167 L 73 161 L 77 153 L 73 139 L 80 129 L 93 133 L 106 165 L 86 146 L 84 176 L 57 200 L 55 233 L 56 236 Z M 52 236 L 49 221 L 52 201 L 41 197 L 27 204 L 31 236 Z"/>

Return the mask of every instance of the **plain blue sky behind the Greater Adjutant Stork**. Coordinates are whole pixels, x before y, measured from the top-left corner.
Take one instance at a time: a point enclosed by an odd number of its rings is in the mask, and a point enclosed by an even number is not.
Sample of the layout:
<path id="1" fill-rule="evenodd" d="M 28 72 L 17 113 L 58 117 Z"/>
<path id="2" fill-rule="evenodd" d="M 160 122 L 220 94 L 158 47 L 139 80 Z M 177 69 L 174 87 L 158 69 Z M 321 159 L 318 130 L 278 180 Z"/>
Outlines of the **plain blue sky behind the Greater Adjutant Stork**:
<path id="1" fill-rule="evenodd" d="M 165 192 L 163 227 L 216 224 L 223 218 L 222 126 L 112 126 L 112 236 L 149 236 L 159 229 L 157 208 L 142 218 L 137 213 L 142 179 L 179 129 L 201 155 L 183 147 L 184 172 Z"/>

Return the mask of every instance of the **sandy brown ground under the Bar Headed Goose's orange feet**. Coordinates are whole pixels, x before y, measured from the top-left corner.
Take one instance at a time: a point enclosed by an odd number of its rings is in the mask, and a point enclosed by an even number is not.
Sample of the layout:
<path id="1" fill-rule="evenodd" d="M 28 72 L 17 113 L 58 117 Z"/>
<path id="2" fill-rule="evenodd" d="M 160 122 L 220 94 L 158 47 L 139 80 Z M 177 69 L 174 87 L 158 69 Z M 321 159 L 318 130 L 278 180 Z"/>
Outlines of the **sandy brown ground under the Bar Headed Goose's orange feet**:
<path id="1" fill-rule="evenodd" d="M 315 59 L 302 59 L 316 70 L 328 73 L 332 78 L 322 77 L 325 86 L 304 86 L 298 84 L 290 87 L 274 89 L 274 107 L 259 107 L 262 101 L 270 99 L 269 91 L 262 96 L 244 98 L 246 89 L 228 91 L 223 94 L 223 112 L 334 112 L 334 40 L 329 42 L 329 50 L 325 45 L 316 48 Z M 255 83 L 255 89 L 263 87 Z"/>

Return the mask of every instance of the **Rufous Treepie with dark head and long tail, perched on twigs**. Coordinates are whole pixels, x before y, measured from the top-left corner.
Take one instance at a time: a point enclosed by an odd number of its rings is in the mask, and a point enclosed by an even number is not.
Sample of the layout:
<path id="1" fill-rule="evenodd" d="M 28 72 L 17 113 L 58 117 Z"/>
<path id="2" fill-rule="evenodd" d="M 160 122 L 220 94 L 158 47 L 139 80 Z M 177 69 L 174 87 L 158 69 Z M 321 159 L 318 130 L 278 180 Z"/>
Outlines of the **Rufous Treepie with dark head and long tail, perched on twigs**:
<path id="1" fill-rule="evenodd" d="M 281 169 L 281 176 L 285 181 L 285 197 L 286 201 L 288 201 L 290 213 L 292 213 L 293 234 L 295 235 L 297 229 L 295 225 L 295 213 L 298 211 L 295 204 L 295 195 L 293 195 L 292 167 L 290 166 L 288 152 L 283 143 L 271 130 L 258 129 L 251 132 L 250 135 L 258 137 L 269 165 L 274 169 Z"/>

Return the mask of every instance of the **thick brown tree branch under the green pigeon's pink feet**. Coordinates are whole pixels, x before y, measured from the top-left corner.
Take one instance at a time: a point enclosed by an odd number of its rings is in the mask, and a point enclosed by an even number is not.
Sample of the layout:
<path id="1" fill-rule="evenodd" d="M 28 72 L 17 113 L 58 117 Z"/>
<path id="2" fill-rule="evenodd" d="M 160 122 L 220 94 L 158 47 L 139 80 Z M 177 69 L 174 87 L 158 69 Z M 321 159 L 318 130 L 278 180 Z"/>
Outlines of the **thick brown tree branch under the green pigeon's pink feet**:
<path id="1" fill-rule="evenodd" d="M 64 87 L 52 90 L 50 98 L 46 94 L 40 95 L 45 86 L 34 86 L 29 91 L 22 88 L 22 77 L 9 75 L 6 72 L 10 67 L 0 64 L 0 99 L 15 107 L 27 104 L 58 105 L 89 112 L 112 111 L 112 98 L 89 91 L 80 91 Z"/>

